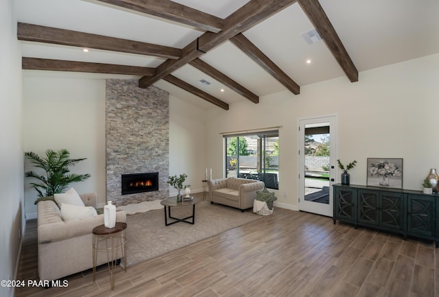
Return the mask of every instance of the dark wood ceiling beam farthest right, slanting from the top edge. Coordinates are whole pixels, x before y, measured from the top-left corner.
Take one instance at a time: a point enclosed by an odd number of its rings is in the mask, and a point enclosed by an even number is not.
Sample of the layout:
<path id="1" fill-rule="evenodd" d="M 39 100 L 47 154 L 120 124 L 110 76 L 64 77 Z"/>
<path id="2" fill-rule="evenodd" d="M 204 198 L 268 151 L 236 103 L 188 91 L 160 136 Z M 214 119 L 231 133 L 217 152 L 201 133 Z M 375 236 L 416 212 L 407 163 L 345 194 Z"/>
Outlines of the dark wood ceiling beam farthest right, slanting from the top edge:
<path id="1" fill-rule="evenodd" d="M 298 0 L 298 3 L 305 14 L 307 14 L 309 21 L 316 27 L 324 43 L 326 43 L 348 79 L 351 82 L 357 82 L 358 70 L 318 0 Z"/>

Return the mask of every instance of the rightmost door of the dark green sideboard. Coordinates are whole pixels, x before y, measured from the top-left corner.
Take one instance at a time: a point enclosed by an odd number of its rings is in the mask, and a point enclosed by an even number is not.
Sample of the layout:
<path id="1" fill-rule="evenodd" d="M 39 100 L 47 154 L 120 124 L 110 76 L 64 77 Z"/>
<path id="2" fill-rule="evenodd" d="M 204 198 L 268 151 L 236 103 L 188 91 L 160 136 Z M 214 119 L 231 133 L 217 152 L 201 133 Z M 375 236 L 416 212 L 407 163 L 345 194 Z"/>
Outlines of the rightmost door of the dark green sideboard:
<path id="1" fill-rule="evenodd" d="M 435 200 L 425 196 L 409 195 L 407 209 L 407 231 L 434 236 Z"/>

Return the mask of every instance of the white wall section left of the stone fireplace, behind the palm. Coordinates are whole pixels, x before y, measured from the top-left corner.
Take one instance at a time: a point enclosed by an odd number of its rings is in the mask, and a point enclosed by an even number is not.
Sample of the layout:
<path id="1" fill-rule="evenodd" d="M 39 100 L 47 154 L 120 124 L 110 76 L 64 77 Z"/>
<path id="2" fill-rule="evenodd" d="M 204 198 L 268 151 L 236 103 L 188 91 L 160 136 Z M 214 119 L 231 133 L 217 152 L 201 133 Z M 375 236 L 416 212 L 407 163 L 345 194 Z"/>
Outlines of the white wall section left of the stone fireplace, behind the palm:
<path id="1" fill-rule="evenodd" d="M 45 155 L 47 149 L 67 149 L 71 158 L 87 158 L 71 167 L 76 174 L 91 174 L 71 184 L 78 193 L 96 192 L 106 201 L 105 186 L 105 80 L 46 78 L 27 73 L 24 79 L 24 150 Z M 34 169 L 29 161 L 25 170 Z M 25 178 L 27 219 L 36 217 L 36 191 Z"/>

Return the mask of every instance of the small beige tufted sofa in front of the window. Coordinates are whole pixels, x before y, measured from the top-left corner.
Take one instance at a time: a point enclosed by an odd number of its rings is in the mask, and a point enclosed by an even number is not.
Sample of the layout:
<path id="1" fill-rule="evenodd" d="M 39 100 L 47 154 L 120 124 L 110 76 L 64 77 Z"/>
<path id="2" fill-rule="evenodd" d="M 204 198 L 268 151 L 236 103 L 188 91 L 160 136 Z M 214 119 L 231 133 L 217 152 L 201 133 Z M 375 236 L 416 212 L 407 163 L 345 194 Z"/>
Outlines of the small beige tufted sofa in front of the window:
<path id="1" fill-rule="evenodd" d="M 243 212 L 253 207 L 256 192 L 264 187 L 263 182 L 246 178 L 219 178 L 209 180 L 207 185 L 209 185 L 209 200 L 212 203 L 232 206 Z"/>

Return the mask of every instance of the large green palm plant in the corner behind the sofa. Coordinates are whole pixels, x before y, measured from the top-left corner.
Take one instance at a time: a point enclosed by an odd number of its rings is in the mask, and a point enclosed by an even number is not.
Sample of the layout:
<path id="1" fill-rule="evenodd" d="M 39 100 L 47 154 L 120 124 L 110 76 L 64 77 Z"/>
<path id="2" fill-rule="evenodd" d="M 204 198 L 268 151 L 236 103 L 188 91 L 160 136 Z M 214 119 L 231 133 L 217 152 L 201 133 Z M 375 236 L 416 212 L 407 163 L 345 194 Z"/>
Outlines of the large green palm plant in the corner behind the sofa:
<path id="1" fill-rule="evenodd" d="M 38 192 L 38 197 L 52 196 L 62 193 L 71 182 L 82 182 L 90 177 L 90 174 L 71 174 L 69 167 L 85 160 L 86 158 L 71 159 L 68 150 L 47 150 L 45 156 L 38 156 L 35 152 L 25 152 L 27 158 L 35 167 L 43 169 L 45 174 L 30 170 L 25 172 L 28 178 L 36 178 L 38 182 L 30 185 Z"/>

